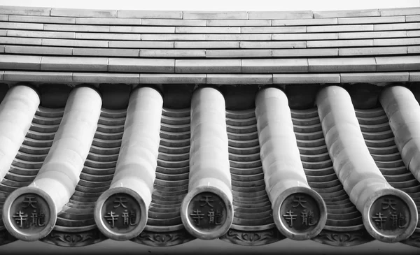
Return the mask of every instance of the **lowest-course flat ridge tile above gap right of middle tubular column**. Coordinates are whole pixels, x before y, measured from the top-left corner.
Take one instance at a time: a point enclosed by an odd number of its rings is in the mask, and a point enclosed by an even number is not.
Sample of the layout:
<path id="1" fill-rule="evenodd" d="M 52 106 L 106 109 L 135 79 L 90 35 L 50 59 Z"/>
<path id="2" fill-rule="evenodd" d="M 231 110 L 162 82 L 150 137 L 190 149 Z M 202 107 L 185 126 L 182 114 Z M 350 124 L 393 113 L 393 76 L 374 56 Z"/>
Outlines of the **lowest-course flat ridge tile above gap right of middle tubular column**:
<path id="1" fill-rule="evenodd" d="M 246 84 L 272 84 L 273 75 L 265 74 L 208 74 L 207 84 L 218 84 L 218 85 L 246 85 Z"/>

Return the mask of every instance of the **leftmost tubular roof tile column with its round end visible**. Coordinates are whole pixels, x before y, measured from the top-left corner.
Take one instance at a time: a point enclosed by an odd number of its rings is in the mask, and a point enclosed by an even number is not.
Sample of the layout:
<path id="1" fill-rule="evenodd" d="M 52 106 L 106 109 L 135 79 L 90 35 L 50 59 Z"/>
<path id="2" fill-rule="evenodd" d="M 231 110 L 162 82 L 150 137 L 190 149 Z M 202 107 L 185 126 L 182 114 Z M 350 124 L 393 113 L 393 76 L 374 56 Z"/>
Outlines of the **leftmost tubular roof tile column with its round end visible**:
<path id="1" fill-rule="evenodd" d="M 35 180 L 13 191 L 3 207 L 8 231 L 21 240 L 40 240 L 52 231 L 69 202 L 97 129 L 102 99 L 88 87 L 73 89 L 54 142 Z M 33 210 L 32 210 L 33 209 Z M 34 212 L 35 211 L 35 212 Z M 35 224 L 25 225 L 31 215 Z"/>

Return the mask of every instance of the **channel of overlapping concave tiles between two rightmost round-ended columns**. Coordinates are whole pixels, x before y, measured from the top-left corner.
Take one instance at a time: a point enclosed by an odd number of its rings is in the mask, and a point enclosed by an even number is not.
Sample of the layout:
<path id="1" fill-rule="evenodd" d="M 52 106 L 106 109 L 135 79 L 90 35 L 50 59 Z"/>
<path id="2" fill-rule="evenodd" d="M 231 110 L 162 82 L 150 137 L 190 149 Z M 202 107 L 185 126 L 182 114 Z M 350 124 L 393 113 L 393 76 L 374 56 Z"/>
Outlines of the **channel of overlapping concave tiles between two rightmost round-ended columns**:
<path id="1" fill-rule="evenodd" d="M 317 109 L 291 110 L 291 114 L 309 186 L 321 195 L 328 212 L 323 231 L 313 240 L 334 246 L 372 240 L 364 231 L 362 215 L 335 174 Z"/>

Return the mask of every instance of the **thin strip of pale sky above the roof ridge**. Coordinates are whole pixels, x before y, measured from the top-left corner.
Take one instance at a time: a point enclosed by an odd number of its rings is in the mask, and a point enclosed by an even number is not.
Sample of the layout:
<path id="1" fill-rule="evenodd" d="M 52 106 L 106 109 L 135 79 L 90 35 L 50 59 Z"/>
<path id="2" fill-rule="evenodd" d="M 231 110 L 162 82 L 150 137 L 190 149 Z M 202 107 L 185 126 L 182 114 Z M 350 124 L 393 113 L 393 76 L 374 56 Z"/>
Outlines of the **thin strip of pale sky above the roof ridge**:
<path id="1" fill-rule="evenodd" d="M 111 10 L 354 10 L 419 7 L 420 0 L 0 0 L 0 6 Z"/>

